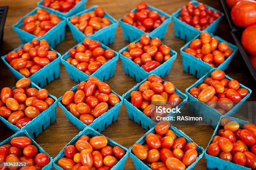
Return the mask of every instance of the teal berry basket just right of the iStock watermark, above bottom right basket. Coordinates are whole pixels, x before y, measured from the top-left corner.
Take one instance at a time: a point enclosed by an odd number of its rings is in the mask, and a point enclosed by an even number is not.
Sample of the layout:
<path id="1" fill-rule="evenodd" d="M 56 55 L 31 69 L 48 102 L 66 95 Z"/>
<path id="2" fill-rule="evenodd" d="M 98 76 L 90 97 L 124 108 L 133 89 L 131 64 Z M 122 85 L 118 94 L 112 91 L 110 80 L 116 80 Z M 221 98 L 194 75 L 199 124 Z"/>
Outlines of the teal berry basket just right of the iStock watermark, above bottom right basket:
<path id="1" fill-rule="evenodd" d="M 207 124 L 211 125 L 212 128 L 216 128 L 216 125 L 218 124 L 218 121 L 220 120 L 220 117 L 222 116 L 218 110 L 206 105 L 204 102 L 200 102 L 197 98 L 193 97 L 190 93 L 189 90 L 192 87 L 198 87 L 200 84 L 204 82 L 204 79 L 206 77 L 210 77 L 211 73 L 216 70 L 212 69 L 210 72 L 208 72 L 206 75 L 201 77 L 197 82 L 195 82 L 193 85 L 188 87 L 186 89 L 186 94 L 188 96 L 188 108 L 189 112 L 194 113 L 198 117 L 202 117 L 202 120 L 206 122 Z M 228 80 L 233 80 L 231 77 L 228 75 L 225 75 L 225 78 Z M 242 85 L 240 83 L 241 88 L 246 88 L 249 91 L 249 94 L 246 95 L 240 102 L 238 102 L 236 105 L 233 106 L 232 109 L 230 109 L 225 115 L 226 116 L 233 116 L 236 114 L 236 112 L 239 110 L 239 108 L 243 105 L 243 102 L 245 102 L 251 95 L 251 89 L 248 87 Z"/>

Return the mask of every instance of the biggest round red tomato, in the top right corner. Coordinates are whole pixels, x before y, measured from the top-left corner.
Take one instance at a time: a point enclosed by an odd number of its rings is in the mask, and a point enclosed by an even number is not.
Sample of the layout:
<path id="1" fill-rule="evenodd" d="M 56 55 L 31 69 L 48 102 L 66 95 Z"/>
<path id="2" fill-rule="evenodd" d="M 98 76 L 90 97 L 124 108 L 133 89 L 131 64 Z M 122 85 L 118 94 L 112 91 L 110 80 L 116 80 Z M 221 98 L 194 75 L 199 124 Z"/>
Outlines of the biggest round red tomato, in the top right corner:
<path id="1" fill-rule="evenodd" d="M 238 27 L 248 27 L 256 23 L 256 2 L 242 0 L 231 10 L 231 18 Z"/>

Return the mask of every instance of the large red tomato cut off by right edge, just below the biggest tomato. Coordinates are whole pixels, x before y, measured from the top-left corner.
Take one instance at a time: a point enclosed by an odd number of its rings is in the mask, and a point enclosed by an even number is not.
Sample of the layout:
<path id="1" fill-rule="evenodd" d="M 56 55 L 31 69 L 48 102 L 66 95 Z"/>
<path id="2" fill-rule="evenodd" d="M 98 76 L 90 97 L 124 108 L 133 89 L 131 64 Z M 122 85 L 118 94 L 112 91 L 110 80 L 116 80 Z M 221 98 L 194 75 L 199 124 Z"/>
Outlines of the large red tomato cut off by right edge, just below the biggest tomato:
<path id="1" fill-rule="evenodd" d="M 256 24 L 251 25 L 243 31 L 241 42 L 246 52 L 251 55 L 256 55 Z"/>

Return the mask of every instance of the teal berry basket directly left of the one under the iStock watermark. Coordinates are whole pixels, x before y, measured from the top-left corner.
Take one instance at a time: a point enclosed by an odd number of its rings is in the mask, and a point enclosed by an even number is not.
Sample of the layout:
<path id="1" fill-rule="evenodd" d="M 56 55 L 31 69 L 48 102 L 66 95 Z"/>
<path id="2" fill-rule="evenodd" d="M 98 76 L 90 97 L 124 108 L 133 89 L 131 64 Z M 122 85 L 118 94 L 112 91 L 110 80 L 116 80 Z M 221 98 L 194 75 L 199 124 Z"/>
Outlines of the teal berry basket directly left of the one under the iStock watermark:
<path id="1" fill-rule="evenodd" d="M 71 91 L 76 92 L 77 87 L 78 85 L 72 87 Z M 111 92 L 115 93 L 113 90 L 111 90 Z M 121 97 L 117 93 L 115 93 L 115 95 L 119 97 L 120 102 L 117 103 L 114 107 L 112 107 L 107 112 L 95 118 L 95 120 L 90 125 L 85 125 L 81 120 L 79 120 L 69 110 L 67 110 L 65 105 L 63 105 L 61 102 L 61 99 L 63 96 L 59 97 L 58 104 L 59 104 L 59 107 L 61 107 L 61 109 L 64 111 L 65 115 L 67 116 L 67 119 L 70 122 L 72 122 L 79 130 L 83 130 L 85 127 L 90 126 L 96 131 L 101 132 L 118 119 L 120 107 L 121 105 L 123 105 L 123 97 Z"/>

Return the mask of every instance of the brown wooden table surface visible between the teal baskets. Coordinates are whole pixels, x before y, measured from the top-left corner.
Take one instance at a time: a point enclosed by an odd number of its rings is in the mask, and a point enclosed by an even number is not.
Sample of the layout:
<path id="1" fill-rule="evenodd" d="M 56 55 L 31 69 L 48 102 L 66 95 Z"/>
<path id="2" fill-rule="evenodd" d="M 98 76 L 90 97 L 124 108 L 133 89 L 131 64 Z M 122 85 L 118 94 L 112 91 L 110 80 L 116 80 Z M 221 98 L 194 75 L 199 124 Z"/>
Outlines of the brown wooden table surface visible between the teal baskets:
<path id="1" fill-rule="evenodd" d="M 147 0 L 149 5 L 153 5 L 168 14 L 174 13 L 182 5 L 186 4 L 189 0 Z M 218 0 L 201 0 L 202 2 L 214 7 L 218 10 L 222 10 L 220 2 Z M 37 6 L 36 0 L 0 0 L 0 6 L 8 5 L 9 11 L 7 20 L 5 23 L 4 30 L 4 41 L 2 45 L 1 55 L 5 55 L 9 51 L 21 45 L 21 41 L 13 31 L 12 25 L 18 22 L 21 17 L 26 15 L 28 12 L 33 10 Z M 136 7 L 137 0 L 87 0 L 86 8 L 92 7 L 93 5 L 99 5 L 103 7 L 106 12 L 112 15 L 115 19 L 121 18 L 123 15 L 127 14 L 130 10 Z M 234 43 L 233 39 L 229 33 L 229 28 L 225 18 L 221 21 L 218 30 L 215 35 L 222 37 L 228 42 Z M 197 78 L 184 72 L 182 69 L 182 57 L 180 56 L 180 48 L 185 44 L 185 42 L 174 36 L 174 26 L 173 23 L 169 25 L 169 28 L 164 39 L 164 43 L 178 52 L 177 59 L 174 61 L 172 69 L 164 80 L 169 80 L 174 83 L 174 85 L 185 92 L 185 89 L 192 85 Z M 62 55 L 69 50 L 71 47 L 76 45 L 77 42 L 74 41 L 71 32 L 66 32 L 66 38 L 64 42 L 61 42 L 55 50 L 60 52 Z M 112 45 L 109 45 L 113 50 L 120 50 L 128 42 L 125 41 L 123 37 L 123 31 L 120 26 L 116 31 L 115 41 Z M 239 80 L 242 84 L 255 89 L 255 84 L 249 82 L 246 75 L 245 69 L 241 64 L 240 54 L 236 54 L 231 62 L 230 66 L 226 70 L 226 73 L 236 80 Z M 12 75 L 11 71 L 0 61 L 0 88 L 3 87 L 13 87 L 15 86 L 15 77 Z M 119 60 L 116 66 L 115 75 L 110 78 L 107 83 L 110 87 L 117 92 L 119 95 L 123 95 L 131 87 L 136 85 L 136 81 L 133 80 L 128 75 L 125 75 L 123 70 L 123 65 Z M 60 97 L 67 90 L 71 89 L 77 82 L 71 80 L 65 70 L 65 67 L 61 65 L 61 75 L 58 79 L 47 85 L 46 88 L 52 95 Z M 250 101 L 256 100 L 256 94 L 253 94 L 248 99 Z M 190 138 L 192 138 L 198 145 L 203 148 L 207 147 L 207 144 L 214 131 L 208 125 L 204 126 L 177 126 L 180 130 L 184 131 Z M 41 133 L 37 138 L 36 142 L 47 152 L 51 157 L 55 157 L 59 151 L 75 136 L 79 133 L 79 130 L 67 120 L 64 112 L 60 107 L 57 107 L 57 120 L 50 127 L 48 127 L 43 133 Z M 129 148 L 133 145 L 146 130 L 142 129 L 138 124 L 130 120 L 127 116 L 125 105 L 120 109 L 120 115 L 118 120 L 105 129 L 102 134 L 108 138 L 114 140 L 115 142 Z M 13 135 L 13 132 L 6 128 L 2 122 L 0 122 L 0 141 Z M 131 158 L 126 160 L 125 170 L 133 170 L 133 162 Z M 205 158 L 202 158 L 195 167 L 196 170 L 206 169 Z"/>

